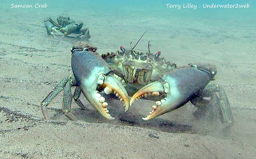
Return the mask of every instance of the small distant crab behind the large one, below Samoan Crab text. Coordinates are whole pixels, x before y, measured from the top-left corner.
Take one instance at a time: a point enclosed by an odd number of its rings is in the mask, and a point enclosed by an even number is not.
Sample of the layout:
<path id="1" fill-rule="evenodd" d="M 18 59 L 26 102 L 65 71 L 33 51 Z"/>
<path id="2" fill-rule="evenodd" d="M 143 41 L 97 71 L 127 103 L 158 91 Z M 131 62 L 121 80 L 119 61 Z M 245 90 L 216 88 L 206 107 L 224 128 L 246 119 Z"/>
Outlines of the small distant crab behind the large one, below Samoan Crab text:
<path id="1" fill-rule="evenodd" d="M 89 28 L 81 29 L 84 25 L 83 22 L 80 22 L 80 21 L 75 22 L 69 17 L 63 17 L 63 16 L 59 16 L 57 18 L 57 21 L 58 23 L 54 22 L 51 17 L 44 19 L 43 21 L 44 26 L 46 28 L 48 35 L 53 35 L 55 37 L 54 32 L 56 33 L 62 32 L 64 34 L 62 37 L 73 33 L 73 34 L 79 34 L 75 38 L 80 37 L 82 35 L 84 35 L 86 39 L 91 38 L 89 33 Z"/>

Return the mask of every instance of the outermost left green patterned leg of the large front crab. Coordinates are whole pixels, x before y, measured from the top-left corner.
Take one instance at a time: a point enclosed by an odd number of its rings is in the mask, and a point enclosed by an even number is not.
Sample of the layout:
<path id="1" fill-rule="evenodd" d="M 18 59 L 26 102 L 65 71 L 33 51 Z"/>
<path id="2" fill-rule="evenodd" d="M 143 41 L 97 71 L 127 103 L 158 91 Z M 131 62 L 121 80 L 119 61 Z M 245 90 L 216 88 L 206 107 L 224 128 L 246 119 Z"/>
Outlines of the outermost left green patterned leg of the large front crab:
<path id="1" fill-rule="evenodd" d="M 66 85 L 68 80 L 69 80 L 69 77 L 62 79 L 60 81 L 60 83 L 53 89 L 53 91 L 51 91 L 51 93 L 48 94 L 47 97 L 42 101 L 41 110 L 42 110 L 44 119 L 49 119 L 48 111 L 47 111 L 46 107 L 53 100 L 53 98 L 63 90 L 63 88 Z"/>

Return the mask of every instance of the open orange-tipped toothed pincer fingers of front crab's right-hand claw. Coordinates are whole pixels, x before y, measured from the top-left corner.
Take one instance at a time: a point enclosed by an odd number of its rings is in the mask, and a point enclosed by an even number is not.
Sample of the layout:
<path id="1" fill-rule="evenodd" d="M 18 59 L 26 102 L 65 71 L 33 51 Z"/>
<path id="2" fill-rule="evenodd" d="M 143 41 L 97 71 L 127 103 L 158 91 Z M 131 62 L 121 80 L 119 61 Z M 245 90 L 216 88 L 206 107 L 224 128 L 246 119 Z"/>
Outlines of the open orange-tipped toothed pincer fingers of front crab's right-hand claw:
<path id="1" fill-rule="evenodd" d="M 163 98 L 160 101 L 156 101 L 156 105 L 152 106 L 153 111 L 150 112 L 150 115 L 142 119 L 150 120 L 155 117 L 158 117 L 170 111 L 170 104 L 171 104 L 171 101 L 173 102 L 173 100 L 169 94 L 170 93 L 169 89 L 170 89 L 169 84 L 161 80 L 147 84 L 132 96 L 130 100 L 130 105 L 141 96 L 147 96 L 147 95 L 162 96 Z M 176 109 L 176 108 L 174 107 L 173 109 Z"/>

